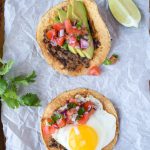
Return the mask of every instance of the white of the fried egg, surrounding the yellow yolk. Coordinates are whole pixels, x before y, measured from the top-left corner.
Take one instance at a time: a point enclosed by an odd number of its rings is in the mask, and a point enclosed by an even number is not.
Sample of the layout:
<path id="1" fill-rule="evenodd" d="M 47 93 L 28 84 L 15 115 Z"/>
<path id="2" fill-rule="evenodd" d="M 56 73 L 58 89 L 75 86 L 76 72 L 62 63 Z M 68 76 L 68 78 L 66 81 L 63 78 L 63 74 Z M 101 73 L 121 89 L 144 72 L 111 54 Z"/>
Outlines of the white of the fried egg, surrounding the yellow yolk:
<path id="1" fill-rule="evenodd" d="M 93 96 L 90 95 L 86 98 L 83 98 L 82 96 L 77 96 L 77 97 L 78 97 L 78 100 L 82 100 L 82 101 L 91 100 L 97 106 L 97 110 L 87 121 L 86 125 L 92 127 L 96 131 L 99 137 L 96 150 L 101 150 L 106 145 L 108 145 L 115 137 L 116 118 L 112 114 L 109 114 L 108 112 L 103 110 L 103 106 L 100 103 L 100 101 L 98 101 Z M 77 131 L 77 127 L 75 127 L 74 125 L 66 125 L 65 127 L 60 128 L 56 133 L 52 135 L 53 138 L 58 143 L 63 145 L 68 150 L 71 150 L 69 147 L 68 141 L 69 141 L 70 130 L 73 127 Z"/>

